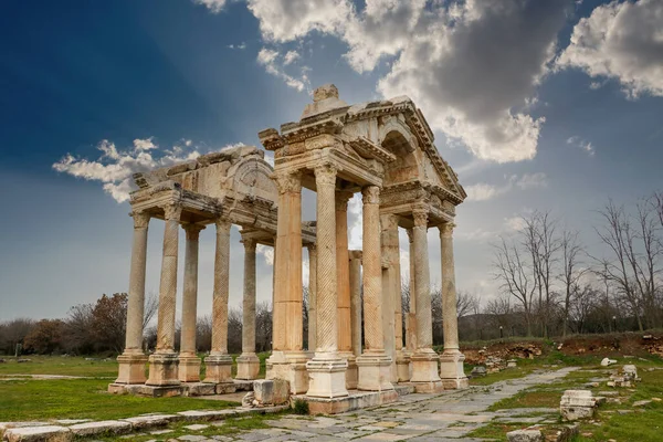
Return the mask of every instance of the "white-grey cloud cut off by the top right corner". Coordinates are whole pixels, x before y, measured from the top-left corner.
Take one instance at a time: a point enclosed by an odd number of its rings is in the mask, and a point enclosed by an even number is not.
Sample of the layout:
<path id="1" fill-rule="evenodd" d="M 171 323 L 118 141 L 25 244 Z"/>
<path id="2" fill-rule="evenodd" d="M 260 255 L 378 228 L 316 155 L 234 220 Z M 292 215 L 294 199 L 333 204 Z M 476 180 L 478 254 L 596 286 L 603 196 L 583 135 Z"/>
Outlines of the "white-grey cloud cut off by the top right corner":
<path id="1" fill-rule="evenodd" d="M 576 24 L 557 64 L 581 69 L 592 78 L 614 78 L 631 98 L 663 96 L 662 54 L 663 2 L 613 1 Z"/>

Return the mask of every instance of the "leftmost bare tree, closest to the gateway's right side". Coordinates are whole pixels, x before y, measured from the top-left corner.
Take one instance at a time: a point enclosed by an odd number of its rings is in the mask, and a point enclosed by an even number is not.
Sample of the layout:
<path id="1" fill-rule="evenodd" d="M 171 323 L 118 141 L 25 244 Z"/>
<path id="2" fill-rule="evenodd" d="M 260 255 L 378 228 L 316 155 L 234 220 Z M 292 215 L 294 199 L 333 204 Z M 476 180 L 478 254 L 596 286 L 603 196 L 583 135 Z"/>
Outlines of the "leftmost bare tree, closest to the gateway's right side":
<path id="1" fill-rule="evenodd" d="M 501 282 L 501 290 L 514 296 L 523 307 L 527 336 L 532 336 L 532 306 L 536 290 L 536 274 L 528 270 L 520 250 L 513 240 L 508 242 L 499 236 L 501 242 L 494 244 L 494 275 Z"/>

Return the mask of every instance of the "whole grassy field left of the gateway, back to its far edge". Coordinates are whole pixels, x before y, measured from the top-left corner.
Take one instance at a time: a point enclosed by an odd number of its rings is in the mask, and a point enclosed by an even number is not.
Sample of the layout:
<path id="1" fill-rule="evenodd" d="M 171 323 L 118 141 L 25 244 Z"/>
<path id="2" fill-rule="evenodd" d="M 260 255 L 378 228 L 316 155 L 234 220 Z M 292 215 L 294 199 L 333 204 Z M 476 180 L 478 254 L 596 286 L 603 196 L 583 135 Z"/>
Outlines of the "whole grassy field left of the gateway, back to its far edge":
<path id="1" fill-rule="evenodd" d="M 261 377 L 269 354 L 260 354 Z M 148 412 L 221 409 L 236 402 L 196 398 L 138 398 L 106 391 L 117 376 L 115 359 L 27 356 L 0 364 L 0 421 L 49 419 L 118 419 Z M 88 358 L 90 359 L 90 358 Z M 233 365 L 233 371 L 236 367 Z M 27 375 L 60 375 L 85 379 L 33 379 Z"/>

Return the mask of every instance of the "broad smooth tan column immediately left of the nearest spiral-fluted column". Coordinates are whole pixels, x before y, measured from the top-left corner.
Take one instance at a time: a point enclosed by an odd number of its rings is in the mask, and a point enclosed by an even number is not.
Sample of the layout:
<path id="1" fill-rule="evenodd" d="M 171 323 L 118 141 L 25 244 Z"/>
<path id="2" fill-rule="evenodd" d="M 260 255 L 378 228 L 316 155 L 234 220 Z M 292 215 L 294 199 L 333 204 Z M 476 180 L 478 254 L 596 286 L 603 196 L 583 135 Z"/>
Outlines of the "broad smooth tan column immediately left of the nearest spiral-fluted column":
<path id="1" fill-rule="evenodd" d="M 285 379 L 291 392 L 308 390 L 302 315 L 302 173 L 275 172 L 278 221 L 274 257 L 273 350 L 267 379 Z"/>

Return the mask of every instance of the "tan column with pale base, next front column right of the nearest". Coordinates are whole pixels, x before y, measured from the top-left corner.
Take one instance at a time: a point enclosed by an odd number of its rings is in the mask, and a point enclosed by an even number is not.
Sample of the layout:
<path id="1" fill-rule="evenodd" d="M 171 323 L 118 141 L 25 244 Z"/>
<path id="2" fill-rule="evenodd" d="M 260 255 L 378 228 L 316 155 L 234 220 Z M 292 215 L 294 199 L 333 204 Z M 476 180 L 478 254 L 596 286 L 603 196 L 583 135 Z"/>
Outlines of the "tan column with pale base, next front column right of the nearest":
<path id="1" fill-rule="evenodd" d="M 364 341 L 357 358 L 359 390 L 392 390 L 391 358 L 385 352 L 382 328 L 382 263 L 380 256 L 380 189 L 368 186 L 364 196 Z"/>

